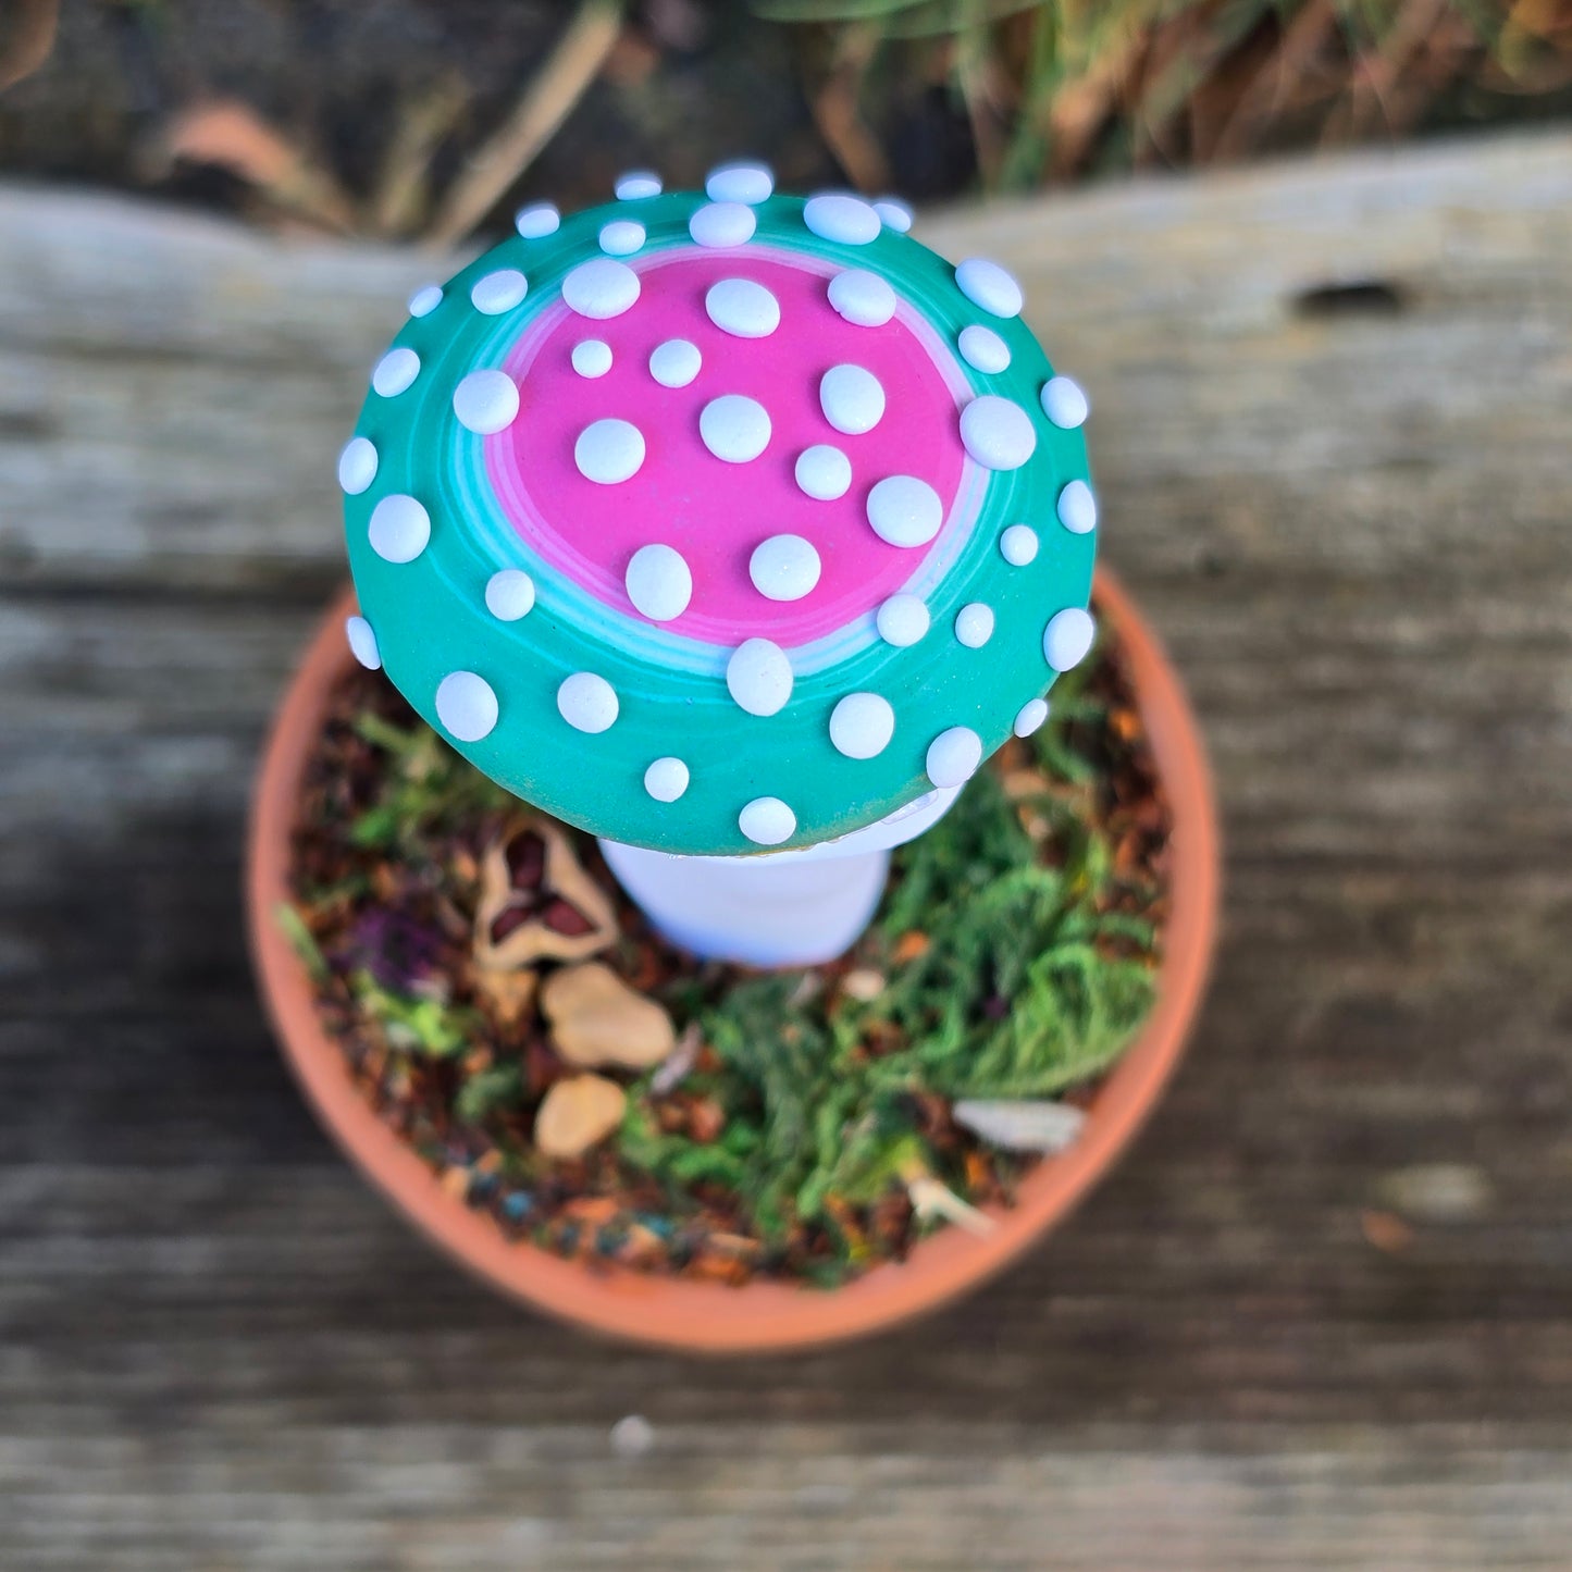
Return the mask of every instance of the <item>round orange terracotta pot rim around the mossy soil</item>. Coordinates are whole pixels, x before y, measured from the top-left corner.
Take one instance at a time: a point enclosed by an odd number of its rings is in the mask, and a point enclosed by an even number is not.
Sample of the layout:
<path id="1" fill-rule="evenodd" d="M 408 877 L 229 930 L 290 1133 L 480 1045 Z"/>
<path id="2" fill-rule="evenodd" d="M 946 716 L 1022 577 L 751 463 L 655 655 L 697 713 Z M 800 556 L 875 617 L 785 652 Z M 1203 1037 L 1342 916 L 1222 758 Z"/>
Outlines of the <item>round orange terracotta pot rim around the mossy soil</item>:
<path id="1" fill-rule="evenodd" d="M 1075 1144 L 1042 1162 L 1017 1204 L 986 1236 L 946 1228 L 899 1265 L 880 1265 L 839 1289 L 748 1283 L 725 1287 L 597 1265 L 590 1270 L 530 1243 L 448 1195 L 431 1170 L 377 1116 L 349 1078 L 318 1019 L 305 967 L 274 913 L 286 899 L 289 832 L 307 758 L 329 690 L 351 662 L 333 607 L 307 649 L 278 712 L 253 803 L 247 907 L 252 954 L 267 1011 L 318 1116 L 399 1209 L 465 1267 L 525 1303 L 594 1331 L 701 1353 L 788 1350 L 860 1336 L 976 1287 L 1066 1217 L 1151 1111 L 1184 1049 L 1206 986 L 1218 907 L 1218 833 L 1195 718 L 1151 629 L 1107 572 L 1102 616 L 1130 663 L 1141 715 L 1174 814 L 1173 910 L 1155 1008 L 1115 1066 Z"/>

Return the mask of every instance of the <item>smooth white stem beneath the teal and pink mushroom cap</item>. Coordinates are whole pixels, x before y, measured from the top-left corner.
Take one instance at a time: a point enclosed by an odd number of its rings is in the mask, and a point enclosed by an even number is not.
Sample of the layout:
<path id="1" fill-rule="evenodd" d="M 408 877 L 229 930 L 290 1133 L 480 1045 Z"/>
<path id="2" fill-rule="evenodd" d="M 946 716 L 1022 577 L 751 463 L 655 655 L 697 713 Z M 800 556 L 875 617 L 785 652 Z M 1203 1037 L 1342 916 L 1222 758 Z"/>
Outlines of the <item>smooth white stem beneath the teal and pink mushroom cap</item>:
<path id="1" fill-rule="evenodd" d="M 674 945 L 706 960 L 811 967 L 857 943 L 883 894 L 891 847 L 937 824 L 959 792 L 929 792 L 915 811 L 800 850 L 679 857 L 605 839 L 601 850 Z"/>

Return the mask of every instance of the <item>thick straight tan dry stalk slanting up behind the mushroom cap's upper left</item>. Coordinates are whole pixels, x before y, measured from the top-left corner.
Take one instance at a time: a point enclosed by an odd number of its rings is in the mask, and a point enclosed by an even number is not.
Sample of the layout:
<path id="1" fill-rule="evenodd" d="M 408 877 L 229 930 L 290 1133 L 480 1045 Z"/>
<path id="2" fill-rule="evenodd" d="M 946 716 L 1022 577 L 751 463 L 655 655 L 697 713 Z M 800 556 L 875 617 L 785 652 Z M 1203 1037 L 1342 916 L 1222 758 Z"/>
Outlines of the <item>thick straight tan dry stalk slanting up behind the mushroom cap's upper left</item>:
<path id="1" fill-rule="evenodd" d="M 621 30 L 621 0 L 582 0 L 501 129 L 453 182 L 426 234 L 429 245 L 443 250 L 456 245 L 486 217 L 572 113 Z"/>

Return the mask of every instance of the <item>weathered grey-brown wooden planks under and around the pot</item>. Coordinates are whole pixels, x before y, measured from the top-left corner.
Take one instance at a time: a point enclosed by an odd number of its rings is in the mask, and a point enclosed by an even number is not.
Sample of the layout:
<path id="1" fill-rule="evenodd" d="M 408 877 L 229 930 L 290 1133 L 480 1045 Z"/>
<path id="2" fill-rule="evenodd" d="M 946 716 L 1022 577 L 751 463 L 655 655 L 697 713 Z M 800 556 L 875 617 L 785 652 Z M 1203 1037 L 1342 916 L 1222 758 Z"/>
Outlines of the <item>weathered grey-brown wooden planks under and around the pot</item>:
<path id="1" fill-rule="evenodd" d="M 252 990 L 248 775 L 443 266 L 0 190 L 0 1567 L 1572 1563 L 1572 137 L 920 234 L 1014 267 L 1091 390 L 1225 942 L 1027 1264 L 704 1364 L 435 1258 Z"/>

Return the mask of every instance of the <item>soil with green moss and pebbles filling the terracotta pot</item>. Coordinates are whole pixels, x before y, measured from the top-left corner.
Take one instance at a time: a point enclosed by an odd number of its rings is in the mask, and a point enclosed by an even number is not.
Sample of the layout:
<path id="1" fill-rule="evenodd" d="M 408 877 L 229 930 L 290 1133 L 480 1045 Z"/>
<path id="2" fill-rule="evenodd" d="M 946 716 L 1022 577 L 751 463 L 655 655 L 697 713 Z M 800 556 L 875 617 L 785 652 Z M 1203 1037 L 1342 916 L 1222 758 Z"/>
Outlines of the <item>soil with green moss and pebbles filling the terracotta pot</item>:
<path id="1" fill-rule="evenodd" d="M 1108 627 L 1110 624 L 1104 624 Z M 277 913 L 355 1085 L 470 1206 L 586 1264 L 833 1287 L 986 1229 L 1155 992 L 1170 813 L 1111 637 L 830 967 L 701 965 L 593 838 L 379 673 L 332 695 Z"/>

